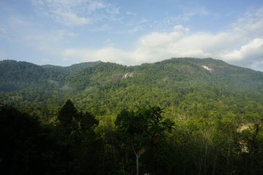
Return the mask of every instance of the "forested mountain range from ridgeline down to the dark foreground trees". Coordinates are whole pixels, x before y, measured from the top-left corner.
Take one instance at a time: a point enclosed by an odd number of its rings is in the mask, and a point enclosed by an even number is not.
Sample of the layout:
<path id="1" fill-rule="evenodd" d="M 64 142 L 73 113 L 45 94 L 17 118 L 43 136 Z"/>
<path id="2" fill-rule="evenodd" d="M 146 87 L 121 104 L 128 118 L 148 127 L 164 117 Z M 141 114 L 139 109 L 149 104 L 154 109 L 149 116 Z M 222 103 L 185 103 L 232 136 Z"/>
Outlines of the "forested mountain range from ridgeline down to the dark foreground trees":
<path id="1" fill-rule="evenodd" d="M 0 62 L 1 103 L 48 109 L 43 114 L 48 116 L 69 98 L 81 111 L 96 115 L 158 105 L 171 118 L 226 113 L 253 120 L 263 113 L 263 73 L 212 58 L 172 58 L 140 66 Z"/>

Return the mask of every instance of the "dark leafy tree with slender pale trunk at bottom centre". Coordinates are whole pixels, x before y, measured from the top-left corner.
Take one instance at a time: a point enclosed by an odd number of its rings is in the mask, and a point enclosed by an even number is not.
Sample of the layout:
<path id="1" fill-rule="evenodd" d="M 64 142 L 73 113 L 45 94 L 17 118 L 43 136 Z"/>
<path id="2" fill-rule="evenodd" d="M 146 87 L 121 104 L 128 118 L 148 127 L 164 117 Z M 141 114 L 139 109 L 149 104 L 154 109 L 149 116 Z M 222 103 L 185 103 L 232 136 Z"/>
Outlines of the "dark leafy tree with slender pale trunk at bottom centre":
<path id="1" fill-rule="evenodd" d="M 147 147 L 158 145 L 166 130 L 171 131 L 174 123 L 163 119 L 160 107 L 138 109 L 138 111 L 121 111 L 115 125 L 118 139 L 127 151 L 136 156 L 136 174 L 139 174 L 139 158 Z"/>

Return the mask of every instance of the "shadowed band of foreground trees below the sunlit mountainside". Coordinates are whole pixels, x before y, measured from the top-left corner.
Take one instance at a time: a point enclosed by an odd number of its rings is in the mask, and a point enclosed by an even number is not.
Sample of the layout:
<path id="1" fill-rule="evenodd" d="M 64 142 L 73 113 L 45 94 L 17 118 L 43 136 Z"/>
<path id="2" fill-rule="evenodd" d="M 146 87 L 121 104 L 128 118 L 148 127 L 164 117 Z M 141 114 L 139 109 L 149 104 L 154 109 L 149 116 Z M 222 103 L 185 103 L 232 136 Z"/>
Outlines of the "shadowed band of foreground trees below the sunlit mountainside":
<path id="1" fill-rule="evenodd" d="M 262 120 L 241 125 L 235 116 L 196 117 L 176 120 L 174 126 L 160 107 L 148 107 L 123 110 L 116 120 L 101 116 L 98 124 L 91 113 L 78 112 L 70 100 L 59 112 L 68 114 L 71 118 L 63 123 L 70 127 L 65 130 L 61 120 L 60 125 L 41 125 L 28 114 L 2 105 L 1 172 L 134 174 L 140 156 L 140 172 L 150 174 L 263 172 Z"/>

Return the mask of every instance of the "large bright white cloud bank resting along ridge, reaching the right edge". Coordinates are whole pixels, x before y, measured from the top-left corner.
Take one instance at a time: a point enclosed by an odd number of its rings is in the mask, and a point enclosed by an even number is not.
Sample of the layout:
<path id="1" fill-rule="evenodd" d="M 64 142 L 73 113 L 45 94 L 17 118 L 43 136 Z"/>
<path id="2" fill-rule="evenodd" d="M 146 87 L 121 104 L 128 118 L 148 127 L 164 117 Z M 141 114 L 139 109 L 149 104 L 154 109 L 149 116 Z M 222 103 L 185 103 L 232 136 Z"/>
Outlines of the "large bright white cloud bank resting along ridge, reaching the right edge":
<path id="1" fill-rule="evenodd" d="M 263 62 L 263 8 L 246 12 L 224 32 L 190 33 L 189 28 L 178 25 L 170 33 L 149 33 L 140 37 L 133 50 L 68 49 L 62 56 L 123 64 L 156 62 L 170 57 L 214 57 L 263 71 L 259 66 Z"/>

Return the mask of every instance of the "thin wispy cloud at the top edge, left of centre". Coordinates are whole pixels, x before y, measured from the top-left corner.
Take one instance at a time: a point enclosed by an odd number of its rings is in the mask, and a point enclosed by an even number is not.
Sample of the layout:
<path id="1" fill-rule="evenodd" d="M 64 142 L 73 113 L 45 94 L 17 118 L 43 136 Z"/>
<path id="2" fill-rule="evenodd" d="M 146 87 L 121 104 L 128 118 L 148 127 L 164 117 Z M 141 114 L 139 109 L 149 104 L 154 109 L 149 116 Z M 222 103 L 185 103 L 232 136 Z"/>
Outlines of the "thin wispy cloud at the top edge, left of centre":
<path id="1" fill-rule="evenodd" d="M 119 13 L 100 0 L 31 0 L 37 12 L 66 26 L 83 26 Z"/>

